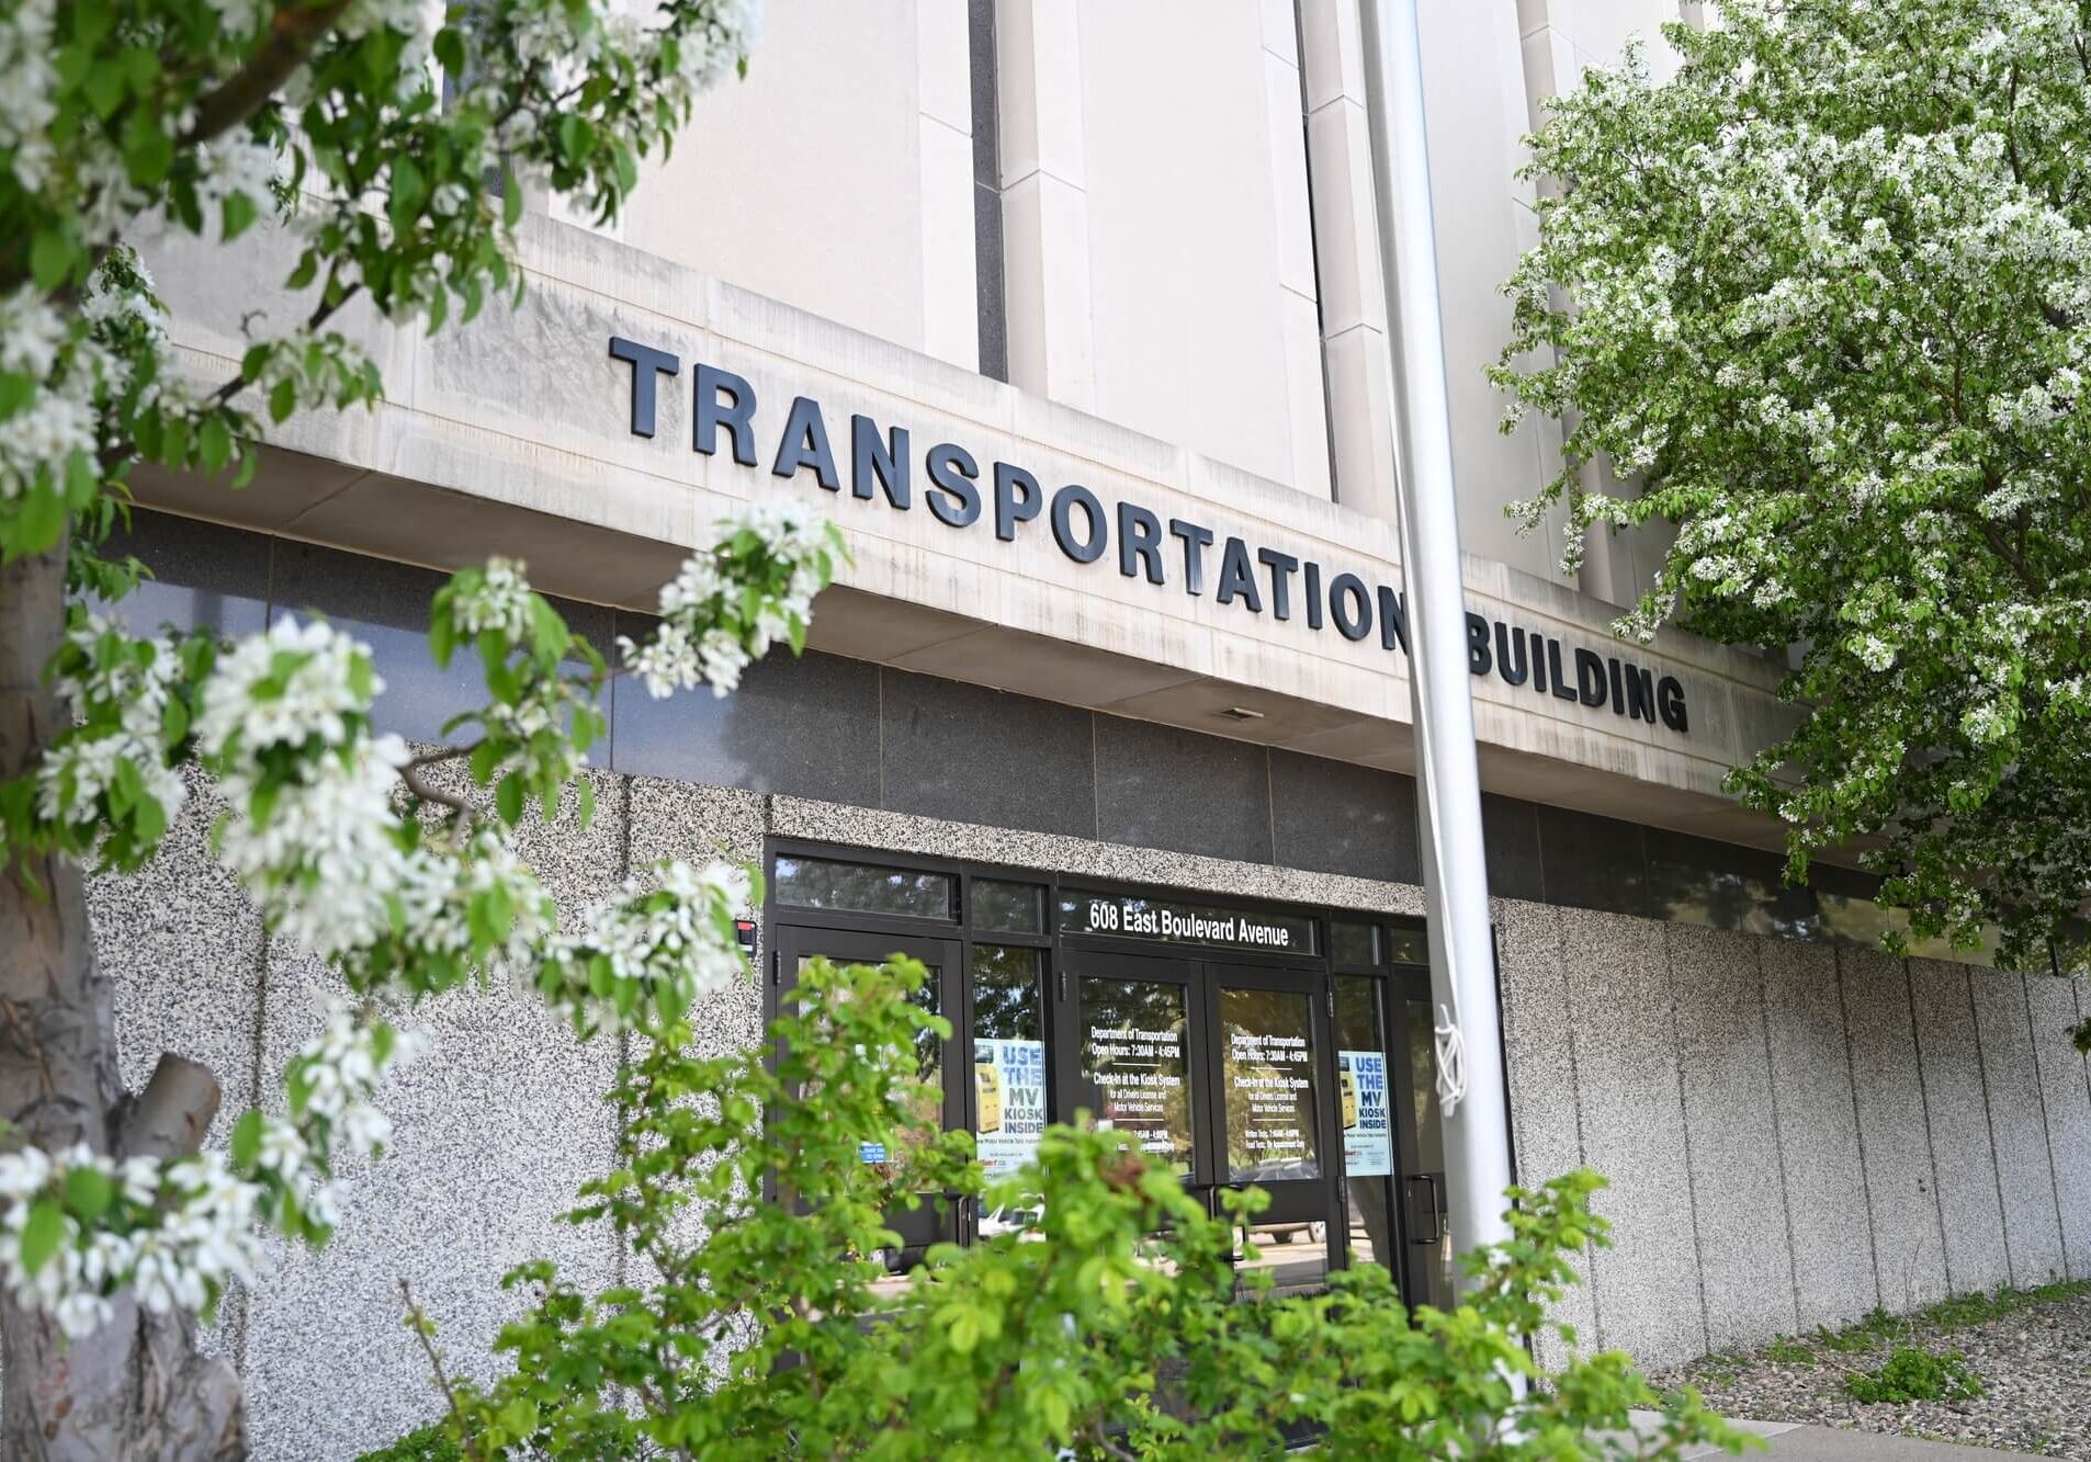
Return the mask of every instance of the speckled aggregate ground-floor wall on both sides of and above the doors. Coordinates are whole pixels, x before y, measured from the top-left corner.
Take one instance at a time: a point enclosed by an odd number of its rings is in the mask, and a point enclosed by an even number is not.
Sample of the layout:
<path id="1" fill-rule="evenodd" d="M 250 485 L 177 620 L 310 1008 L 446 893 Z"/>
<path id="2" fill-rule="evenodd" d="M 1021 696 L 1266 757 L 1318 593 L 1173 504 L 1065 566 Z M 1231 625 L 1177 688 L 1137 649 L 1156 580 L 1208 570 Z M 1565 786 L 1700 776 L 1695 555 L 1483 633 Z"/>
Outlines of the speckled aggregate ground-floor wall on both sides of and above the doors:
<path id="1" fill-rule="evenodd" d="M 569 916 L 627 866 L 755 858 L 765 837 L 1422 910 L 1414 883 L 594 776 L 585 835 L 525 835 Z M 276 1100 L 322 981 L 280 945 L 261 952 L 205 851 L 205 816 L 199 801 L 146 883 L 94 887 L 102 958 L 123 981 L 125 1069 L 186 1050 L 220 1069 L 228 1104 Z M 1911 979 L 1884 956 L 1531 899 L 1499 897 L 1495 920 L 1520 1182 L 1591 1165 L 1612 1184 L 1598 1211 L 1614 1247 L 1564 1307 L 1585 1347 L 1660 1366 L 2005 1276 L 2091 1278 L 2091 1077 L 2062 1029 L 2068 981 L 1928 962 Z M 719 998 L 700 1012 L 707 1044 L 753 1042 L 757 1012 L 753 985 Z M 393 1148 L 349 1173 L 339 1236 L 280 1251 L 266 1288 L 228 1305 L 220 1341 L 261 1458 L 353 1456 L 439 1410 L 399 1326 L 401 1278 L 450 1364 L 487 1378 L 502 1368 L 493 1334 L 523 1303 L 500 1290 L 504 1270 L 548 1255 L 588 1284 L 619 1274 L 608 1230 L 554 1221 L 608 1161 L 596 1098 L 617 1048 L 575 1042 L 506 989 L 447 996 L 414 1023 L 435 1050 L 393 1088 Z"/>

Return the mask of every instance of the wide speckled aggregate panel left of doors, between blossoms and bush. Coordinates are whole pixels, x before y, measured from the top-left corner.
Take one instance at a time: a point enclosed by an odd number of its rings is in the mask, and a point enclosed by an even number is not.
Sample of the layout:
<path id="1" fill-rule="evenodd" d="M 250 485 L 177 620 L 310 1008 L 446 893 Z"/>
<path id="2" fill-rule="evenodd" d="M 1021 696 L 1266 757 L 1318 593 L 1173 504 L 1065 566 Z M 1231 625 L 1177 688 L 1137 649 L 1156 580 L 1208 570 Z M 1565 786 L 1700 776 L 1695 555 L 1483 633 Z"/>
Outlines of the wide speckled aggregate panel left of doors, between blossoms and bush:
<path id="1" fill-rule="evenodd" d="M 596 818 L 585 830 L 569 799 L 556 824 L 527 818 L 516 837 L 562 924 L 623 876 L 621 789 L 606 772 L 590 776 Z M 272 943 L 261 1067 L 278 1109 L 276 1073 L 339 989 L 316 960 Z M 581 1286 L 617 1280 L 611 1230 L 558 1221 L 579 1184 L 611 1165 L 615 1123 L 602 1098 L 617 1042 L 575 1040 L 533 991 L 506 981 L 429 1000 L 404 1023 L 433 1044 L 385 1090 L 391 1146 L 345 1173 L 332 1242 L 278 1244 L 276 1272 L 253 1297 L 245 1383 L 259 1458 L 355 1456 L 435 1416 L 427 1357 L 401 1326 L 401 1278 L 441 1326 L 445 1364 L 481 1380 L 506 1368 L 491 1343 L 527 1303 L 500 1288 L 512 1265 L 548 1257 Z"/>

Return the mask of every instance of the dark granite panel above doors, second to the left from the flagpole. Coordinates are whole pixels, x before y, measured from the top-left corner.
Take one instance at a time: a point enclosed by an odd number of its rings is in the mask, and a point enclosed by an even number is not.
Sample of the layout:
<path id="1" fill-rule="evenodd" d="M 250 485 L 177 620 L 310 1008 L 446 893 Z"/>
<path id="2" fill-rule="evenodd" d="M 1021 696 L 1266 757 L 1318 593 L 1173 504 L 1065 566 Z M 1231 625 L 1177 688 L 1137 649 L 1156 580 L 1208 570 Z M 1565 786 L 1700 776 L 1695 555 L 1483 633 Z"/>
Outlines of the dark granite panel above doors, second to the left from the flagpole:
<path id="1" fill-rule="evenodd" d="M 1098 715 L 1096 835 L 1133 847 L 1273 862 L 1267 753 L 1246 740 Z"/>

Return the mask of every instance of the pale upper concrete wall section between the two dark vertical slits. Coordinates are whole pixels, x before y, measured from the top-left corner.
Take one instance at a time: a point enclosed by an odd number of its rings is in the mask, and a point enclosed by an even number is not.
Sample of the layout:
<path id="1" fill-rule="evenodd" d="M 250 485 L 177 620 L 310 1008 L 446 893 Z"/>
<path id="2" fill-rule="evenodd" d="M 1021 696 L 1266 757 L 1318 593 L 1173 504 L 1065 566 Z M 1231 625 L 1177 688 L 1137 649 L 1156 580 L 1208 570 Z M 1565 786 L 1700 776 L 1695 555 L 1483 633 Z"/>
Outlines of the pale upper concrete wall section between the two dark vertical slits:
<path id="1" fill-rule="evenodd" d="M 1010 381 L 1330 496 L 1288 4 L 1002 4 Z"/>

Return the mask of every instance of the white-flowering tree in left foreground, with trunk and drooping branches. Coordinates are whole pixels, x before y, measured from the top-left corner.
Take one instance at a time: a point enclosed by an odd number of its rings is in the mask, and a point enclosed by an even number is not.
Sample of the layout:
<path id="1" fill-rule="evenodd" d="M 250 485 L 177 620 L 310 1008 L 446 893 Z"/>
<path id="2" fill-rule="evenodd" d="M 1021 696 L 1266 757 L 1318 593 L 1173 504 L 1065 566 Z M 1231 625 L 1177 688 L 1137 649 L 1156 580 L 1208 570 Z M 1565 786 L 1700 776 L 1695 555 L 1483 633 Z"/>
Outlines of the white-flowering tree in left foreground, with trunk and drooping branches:
<path id="1" fill-rule="evenodd" d="M 418 753 L 374 732 L 370 655 L 326 623 L 222 646 L 132 636 L 92 602 L 142 573 L 96 552 L 136 462 L 245 481 L 261 412 L 374 402 L 376 366 L 335 316 L 362 299 L 433 330 L 521 289 L 525 190 L 613 218 L 640 159 L 742 63 L 753 19 L 751 0 L 644 17 L 606 0 L 0 0 L 0 1454 L 245 1449 L 238 1387 L 194 1322 L 255 1276 L 257 1226 L 322 1242 L 335 1157 L 387 1140 L 374 1098 L 418 1044 L 387 998 L 512 970 L 594 1029 L 642 1008 L 673 1021 L 736 968 L 742 874 L 667 866 L 560 931 L 516 860 L 512 828 L 556 812 L 602 730 L 606 673 L 521 565 L 437 596 L 433 653 L 477 655 L 489 701 L 460 745 Z M 125 238 L 255 226 L 301 238 L 297 318 L 253 316 L 238 374 L 186 381 Z M 654 694 L 723 694 L 774 642 L 803 642 L 836 548 L 786 515 L 732 525 L 625 661 Z M 450 757 L 483 797 L 427 780 Z M 228 801 L 224 862 L 345 996 L 282 1073 L 284 1115 L 240 1117 L 228 1155 L 197 1150 L 209 1071 L 169 1054 L 142 1092 L 121 1088 L 82 889 L 88 864 L 155 855 L 186 761 Z"/>

